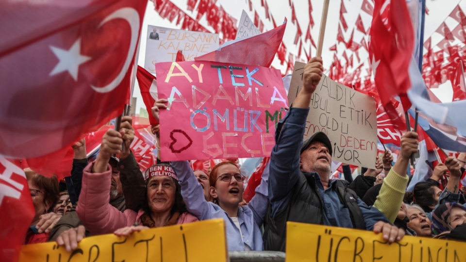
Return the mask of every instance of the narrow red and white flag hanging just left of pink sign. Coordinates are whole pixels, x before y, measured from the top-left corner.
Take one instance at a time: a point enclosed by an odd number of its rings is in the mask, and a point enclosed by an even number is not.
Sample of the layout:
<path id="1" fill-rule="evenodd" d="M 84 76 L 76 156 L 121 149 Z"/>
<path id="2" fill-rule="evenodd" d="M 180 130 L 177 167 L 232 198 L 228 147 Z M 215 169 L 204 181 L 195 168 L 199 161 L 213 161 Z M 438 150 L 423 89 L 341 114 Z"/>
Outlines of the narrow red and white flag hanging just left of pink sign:
<path id="1" fill-rule="evenodd" d="M 152 107 L 154 106 L 155 100 L 158 99 L 157 78 L 143 67 L 137 66 L 136 79 L 139 83 L 142 100 L 144 101 L 146 110 L 149 113 L 149 122 L 151 125 L 157 125 L 159 122 L 152 115 Z"/>

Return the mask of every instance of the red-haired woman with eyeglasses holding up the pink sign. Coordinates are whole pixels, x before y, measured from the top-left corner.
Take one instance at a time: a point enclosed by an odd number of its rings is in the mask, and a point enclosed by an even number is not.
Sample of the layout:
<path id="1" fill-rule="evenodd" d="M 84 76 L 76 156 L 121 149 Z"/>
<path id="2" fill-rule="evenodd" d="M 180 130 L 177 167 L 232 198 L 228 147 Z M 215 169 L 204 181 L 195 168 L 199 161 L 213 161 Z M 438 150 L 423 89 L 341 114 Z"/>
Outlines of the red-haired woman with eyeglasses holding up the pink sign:
<path id="1" fill-rule="evenodd" d="M 166 99 L 159 99 L 152 107 L 156 119 L 160 109 L 166 109 Z M 228 250 L 264 250 L 262 232 L 268 206 L 268 165 L 261 184 L 248 205 L 241 205 L 245 177 L 232 162 L 217 164 L 209 176 L 209 192 L 214 202 L 205 200 L 202 186 L 198 182 L 188 161 L 171 162 L 178 175 L 181 195 L 189 213 L 199 220 L 223 218 L 227 228 Z"/>

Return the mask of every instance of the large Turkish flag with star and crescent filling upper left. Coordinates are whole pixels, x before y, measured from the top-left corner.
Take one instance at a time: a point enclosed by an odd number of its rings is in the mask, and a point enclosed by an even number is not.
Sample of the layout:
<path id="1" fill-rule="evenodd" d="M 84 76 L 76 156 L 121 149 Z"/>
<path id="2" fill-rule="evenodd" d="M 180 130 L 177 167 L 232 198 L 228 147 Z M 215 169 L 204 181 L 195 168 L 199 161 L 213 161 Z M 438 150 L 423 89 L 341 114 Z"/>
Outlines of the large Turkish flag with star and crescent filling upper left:
<path id="1" fill-rule="evenodd" d="M 123 112 L 146 5 L 2 4 L 0 154 L 54 152 Z"/>

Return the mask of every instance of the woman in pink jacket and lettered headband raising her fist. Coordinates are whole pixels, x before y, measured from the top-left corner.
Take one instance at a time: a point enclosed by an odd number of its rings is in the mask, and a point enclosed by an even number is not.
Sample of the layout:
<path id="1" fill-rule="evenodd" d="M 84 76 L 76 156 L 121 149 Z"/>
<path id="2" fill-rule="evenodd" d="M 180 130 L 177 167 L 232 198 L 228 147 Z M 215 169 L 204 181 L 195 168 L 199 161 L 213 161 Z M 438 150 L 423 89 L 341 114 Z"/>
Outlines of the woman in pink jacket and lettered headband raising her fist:
<path id="1" fill-rule="evenodd" d="M 163 164 L 146 170 L 146 200 L 138 212 L 130 209 L 121 212 L 110 205 L 112 169 L 108 161 L 112 154 L 121 151 L 122 132 L 108 130 L 102 138 L 97 160 L 83 170 L 83 186 L 76 208 L 83 225 L 92 234 L 106 234 L 134 224 L 156 228 L 197 221 L 186 212 L 175 172 Z"/>

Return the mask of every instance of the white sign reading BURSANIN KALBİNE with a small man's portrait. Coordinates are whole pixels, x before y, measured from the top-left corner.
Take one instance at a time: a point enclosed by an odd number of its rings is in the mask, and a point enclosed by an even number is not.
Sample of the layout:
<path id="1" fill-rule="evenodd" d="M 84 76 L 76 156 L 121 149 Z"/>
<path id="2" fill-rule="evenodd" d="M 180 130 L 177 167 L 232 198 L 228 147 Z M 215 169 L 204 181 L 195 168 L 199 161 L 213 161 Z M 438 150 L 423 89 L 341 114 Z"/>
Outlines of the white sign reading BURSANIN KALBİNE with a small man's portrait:
<path id="1" fill-rule="evenodd" d="M 154 31 L 155 30 L 155 31 Z M 175 62 L 178 50 L 186 61 L 218 49 L 218 34 L 184 31 L 149 25 L 144 68 L 155 73 L 155 63 Z"/>

